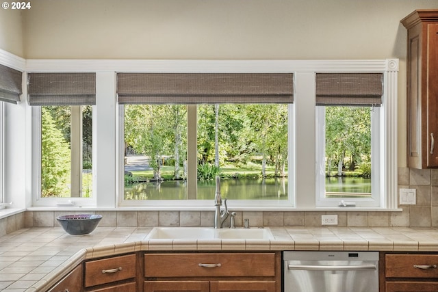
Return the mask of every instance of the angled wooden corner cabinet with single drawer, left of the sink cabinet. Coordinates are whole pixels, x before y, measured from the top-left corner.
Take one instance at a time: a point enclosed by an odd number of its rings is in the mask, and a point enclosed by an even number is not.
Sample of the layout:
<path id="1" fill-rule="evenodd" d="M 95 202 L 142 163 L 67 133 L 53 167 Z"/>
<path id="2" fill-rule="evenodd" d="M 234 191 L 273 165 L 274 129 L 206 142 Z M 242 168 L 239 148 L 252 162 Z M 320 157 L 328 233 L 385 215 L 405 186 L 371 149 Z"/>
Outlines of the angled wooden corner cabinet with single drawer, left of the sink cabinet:
<path id="1" fill-rule="evenodd" d="M 85 262 L 85 290 L 136 292 L 136 258 L 136 254 L 127 254 Z"/>

